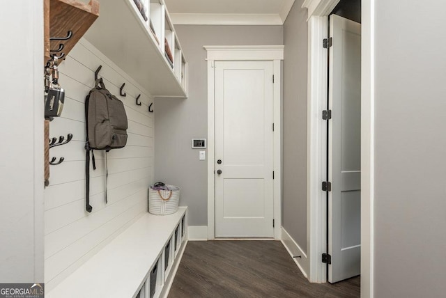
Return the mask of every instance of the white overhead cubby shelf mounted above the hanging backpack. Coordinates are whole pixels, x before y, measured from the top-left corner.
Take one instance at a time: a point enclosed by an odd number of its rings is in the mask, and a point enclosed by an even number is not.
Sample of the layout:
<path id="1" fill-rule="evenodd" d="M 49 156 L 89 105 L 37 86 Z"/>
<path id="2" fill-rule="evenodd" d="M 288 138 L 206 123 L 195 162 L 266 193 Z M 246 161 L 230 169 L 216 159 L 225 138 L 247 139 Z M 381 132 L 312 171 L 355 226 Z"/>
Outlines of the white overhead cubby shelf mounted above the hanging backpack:
<path id="1" fill-rule="evenodd" d="M 102 1 L 100 17 L 85 38 L 128 73 L 155 97 L 187 97 L 186 88 L 175 75 L 175 68 L 164 56 L 167 10 L 162 0 L 151 0 L 146 7 L 153 21 L 157 40 L 133 0 Z M 173 26 L 169 24 L 174 40 Z M 181 67 L 182 65 L 178 65 Z"/>

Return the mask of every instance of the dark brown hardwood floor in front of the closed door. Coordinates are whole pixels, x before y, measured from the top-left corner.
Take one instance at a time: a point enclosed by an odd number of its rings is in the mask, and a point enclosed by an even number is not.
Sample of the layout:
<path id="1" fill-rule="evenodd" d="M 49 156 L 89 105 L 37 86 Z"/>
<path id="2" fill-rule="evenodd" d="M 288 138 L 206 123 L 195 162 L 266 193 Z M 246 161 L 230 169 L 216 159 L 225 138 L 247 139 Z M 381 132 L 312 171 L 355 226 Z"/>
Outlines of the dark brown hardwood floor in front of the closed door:
<path id="1" fill-rule="evenodd" d="M 309 283 L 278 241 L 188 242 L 169 297 L 360 297 L 360 277 Z"/>

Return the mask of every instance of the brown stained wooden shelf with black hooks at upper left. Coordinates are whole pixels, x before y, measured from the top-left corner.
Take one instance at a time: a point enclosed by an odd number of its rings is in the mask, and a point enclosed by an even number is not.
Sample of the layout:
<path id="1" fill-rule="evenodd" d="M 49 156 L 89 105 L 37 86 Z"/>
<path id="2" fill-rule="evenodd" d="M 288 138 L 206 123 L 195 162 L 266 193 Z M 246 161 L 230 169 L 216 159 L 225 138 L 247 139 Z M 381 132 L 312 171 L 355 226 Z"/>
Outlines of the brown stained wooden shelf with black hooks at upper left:
<path id="1" fill-rule="evenodd" d="M 50 0 L 49 8 L 45 3 L 45 24 L 49 30 L 49 36 L 45 32 L 45 61 L 49 59 L 49 49 L 58 49 L 63 44 L 62 52 L 65 55 L 71 51 L 79 39 L 89 29 L 91 24 L 99 16 L 99 2 L 91 0 L 85 4 L 76 0 Z M 46 31 L 47 31 L 46 30 Z M 50 37 L 65 37 L 68 31 L 72 31 L 69 40 L 52 40 Z M 57 53 L 58 55 L 60 53 Z"/>

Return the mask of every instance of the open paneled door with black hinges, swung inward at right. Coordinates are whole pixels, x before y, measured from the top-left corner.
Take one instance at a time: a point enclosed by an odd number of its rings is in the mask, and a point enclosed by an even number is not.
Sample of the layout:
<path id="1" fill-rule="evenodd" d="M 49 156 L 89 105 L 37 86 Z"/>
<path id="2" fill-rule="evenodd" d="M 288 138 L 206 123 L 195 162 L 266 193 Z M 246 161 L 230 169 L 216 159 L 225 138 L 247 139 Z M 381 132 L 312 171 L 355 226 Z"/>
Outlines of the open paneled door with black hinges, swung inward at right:
<path id="1" fill-rule="evenodd" d="M 361 25 L 330 16 L 328 281 L 360 274 Z"/>

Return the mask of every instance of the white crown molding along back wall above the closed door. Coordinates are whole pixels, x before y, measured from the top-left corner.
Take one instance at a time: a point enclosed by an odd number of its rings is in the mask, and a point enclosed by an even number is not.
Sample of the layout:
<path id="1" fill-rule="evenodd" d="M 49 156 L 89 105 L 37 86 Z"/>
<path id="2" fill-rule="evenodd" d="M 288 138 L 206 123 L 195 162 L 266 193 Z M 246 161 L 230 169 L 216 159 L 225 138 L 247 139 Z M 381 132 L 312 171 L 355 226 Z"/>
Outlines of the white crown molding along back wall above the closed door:
<path id="1" fill-rule="evenodd" d="M 282 25 L 279 14 L 171 13 L 174 25 Z"/>

